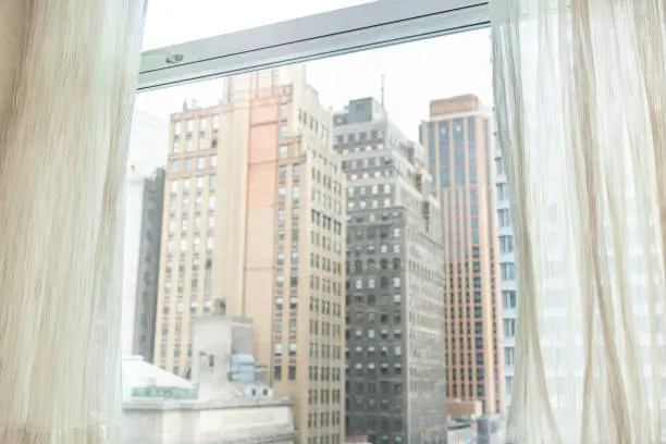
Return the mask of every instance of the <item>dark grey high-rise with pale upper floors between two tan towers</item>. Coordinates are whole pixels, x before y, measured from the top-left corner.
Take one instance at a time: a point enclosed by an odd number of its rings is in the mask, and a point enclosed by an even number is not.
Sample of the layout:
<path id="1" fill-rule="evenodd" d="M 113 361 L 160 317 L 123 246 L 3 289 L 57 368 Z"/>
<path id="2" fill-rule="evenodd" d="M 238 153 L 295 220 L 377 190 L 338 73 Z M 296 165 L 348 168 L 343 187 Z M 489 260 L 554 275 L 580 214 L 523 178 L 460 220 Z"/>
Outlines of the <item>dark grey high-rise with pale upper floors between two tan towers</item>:
<path id="1" fill-rule="evenodd" d="M 445 442 L 441 215 L 422 147 L 370 98 L 334 124 L 347 174 L 347 435 Z"/>

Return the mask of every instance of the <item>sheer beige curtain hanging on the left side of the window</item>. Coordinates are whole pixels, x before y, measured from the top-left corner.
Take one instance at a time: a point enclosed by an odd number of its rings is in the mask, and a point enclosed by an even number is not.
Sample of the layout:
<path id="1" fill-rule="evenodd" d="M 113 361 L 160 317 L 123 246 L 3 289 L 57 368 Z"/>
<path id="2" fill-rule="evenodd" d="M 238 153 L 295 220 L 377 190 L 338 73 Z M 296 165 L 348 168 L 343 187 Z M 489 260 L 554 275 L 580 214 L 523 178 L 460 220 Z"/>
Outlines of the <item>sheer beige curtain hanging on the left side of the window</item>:
<path id="1" fill-rule="evenodd" d="M 120 442 L 141 0 L 1 0 L 0 443 Z"/>

